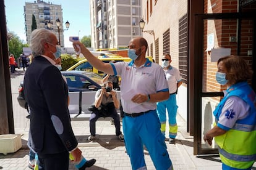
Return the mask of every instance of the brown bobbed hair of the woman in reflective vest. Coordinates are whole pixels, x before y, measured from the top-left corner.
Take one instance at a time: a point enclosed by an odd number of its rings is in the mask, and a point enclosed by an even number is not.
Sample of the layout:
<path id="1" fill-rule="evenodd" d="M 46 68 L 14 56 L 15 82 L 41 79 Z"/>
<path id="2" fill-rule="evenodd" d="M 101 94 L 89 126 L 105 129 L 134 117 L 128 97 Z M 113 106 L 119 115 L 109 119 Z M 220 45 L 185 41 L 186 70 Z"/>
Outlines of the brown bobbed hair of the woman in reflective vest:
<path id="1" fill-rule="evenodd" d="M 220 58 L 217 65 L 220 62 L 223 62 L 224 68 L 226 68 L 226 79 L 228 79 L 229 84 L 247 81 L 252 77 L 252 70 L 242 57 L 237 55 L 228 55 Z"/>

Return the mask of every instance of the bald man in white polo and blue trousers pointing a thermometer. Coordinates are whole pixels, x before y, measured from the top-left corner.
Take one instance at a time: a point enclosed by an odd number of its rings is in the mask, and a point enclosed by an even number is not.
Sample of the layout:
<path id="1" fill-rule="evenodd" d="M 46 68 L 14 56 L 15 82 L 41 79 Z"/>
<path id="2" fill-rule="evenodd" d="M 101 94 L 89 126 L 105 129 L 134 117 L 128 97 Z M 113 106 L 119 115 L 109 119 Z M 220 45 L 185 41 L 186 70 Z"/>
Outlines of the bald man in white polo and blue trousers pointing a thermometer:
<path id="1" fill-rule="evenodd" d="M 93 67 L 122 78 L 121 102 L 125 114 L 122 125 L 132 169 L 147 169 L 143 145 L 156 169 L 173 169 L 156 113 L 156 102 L 169 98 L 168 83 L 163 68 L 145 58 L 147 41 L 142 37 L 130 40 L 128 56 L 132 61 L 116 63 L 101 62 L 79 41 L 73 44 L 75 51 L 79 51 L 77 44 Z"/>

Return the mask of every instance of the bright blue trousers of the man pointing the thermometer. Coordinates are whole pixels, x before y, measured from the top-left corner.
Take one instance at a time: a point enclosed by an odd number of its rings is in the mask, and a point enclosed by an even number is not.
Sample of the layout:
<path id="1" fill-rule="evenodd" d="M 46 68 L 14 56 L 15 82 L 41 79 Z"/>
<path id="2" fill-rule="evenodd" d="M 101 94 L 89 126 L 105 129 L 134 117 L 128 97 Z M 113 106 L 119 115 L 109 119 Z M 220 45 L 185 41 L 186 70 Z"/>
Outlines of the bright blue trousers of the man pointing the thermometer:
<path id="1" fill-rule="evenodd" d="M 132 118 L 122 119 L 124 142 L 130 157 L 132 169 L 147 169 L 143 153 L 143 145 L 147 147 L 151 160 L 157 170 L 172 169 L 172 163 L 160 131 L 160 121 L 155 110 Z"/>

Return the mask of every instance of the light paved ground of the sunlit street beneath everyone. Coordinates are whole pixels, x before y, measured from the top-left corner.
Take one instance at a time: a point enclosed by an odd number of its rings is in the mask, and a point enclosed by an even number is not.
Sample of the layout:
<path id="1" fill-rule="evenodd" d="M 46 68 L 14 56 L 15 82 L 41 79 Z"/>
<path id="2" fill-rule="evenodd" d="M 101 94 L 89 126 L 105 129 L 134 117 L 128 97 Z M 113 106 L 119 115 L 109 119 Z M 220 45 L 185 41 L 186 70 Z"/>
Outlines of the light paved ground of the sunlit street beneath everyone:
<path id="1" fill-rule="evenodd" d="M 16 153 L 0 154 L 0 169 L 28 169 L 29 119 L 25 118 L 27 111 L 17 103 L 18 87 L 22 80 L 23 70 L 21 69 L 17 70 L 15 75 L 11 75 L 15 134 L 22 134 L 22 148 Z M 95 158 L 97 160 L 95 165 L 88 169 L 131 169 L 124 143 L 119 142 L 114 135 L 114 125 L 109 120 L 108 118 L 101 118 L 96 122 L 96 140 L 89 143 L 85 143 L 85 139 L 90 134 L 88 119 L 72 121 L 72 127 L 79 140 L 79 147 L 83 156 L 87 159 Z M 166 140 L 174 169 L 221 169 L 219 157 L 197 158 L 193 155 L 193 138 L 186 132 L 186 122 L 180 116 L 177 116 L 177 121 L 179 132 L 176 145 L 168 144 Z M 147 150 L 144 152 L 147 168 L 155 169 Z M 69 169 L 75 169 L 74 164 L 70 163 Z"/>

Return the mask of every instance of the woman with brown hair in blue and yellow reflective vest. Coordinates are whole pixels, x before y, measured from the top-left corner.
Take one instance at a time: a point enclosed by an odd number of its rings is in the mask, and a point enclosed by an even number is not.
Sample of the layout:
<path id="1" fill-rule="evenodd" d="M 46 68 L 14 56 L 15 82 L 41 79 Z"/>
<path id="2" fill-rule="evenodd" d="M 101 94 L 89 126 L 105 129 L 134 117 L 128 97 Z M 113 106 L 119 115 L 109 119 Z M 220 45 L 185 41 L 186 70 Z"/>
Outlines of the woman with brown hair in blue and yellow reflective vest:
<path id="1" fill-rule="evenodd" d="M 223 170 L 252 169 L 256 160 L 256 94 L 247 80 L 252 70 L 242 57 L 218 60 L 216 81 L 228 89 L 213 111 L 215 126 L 203 140 L 218 145 Z"/>

